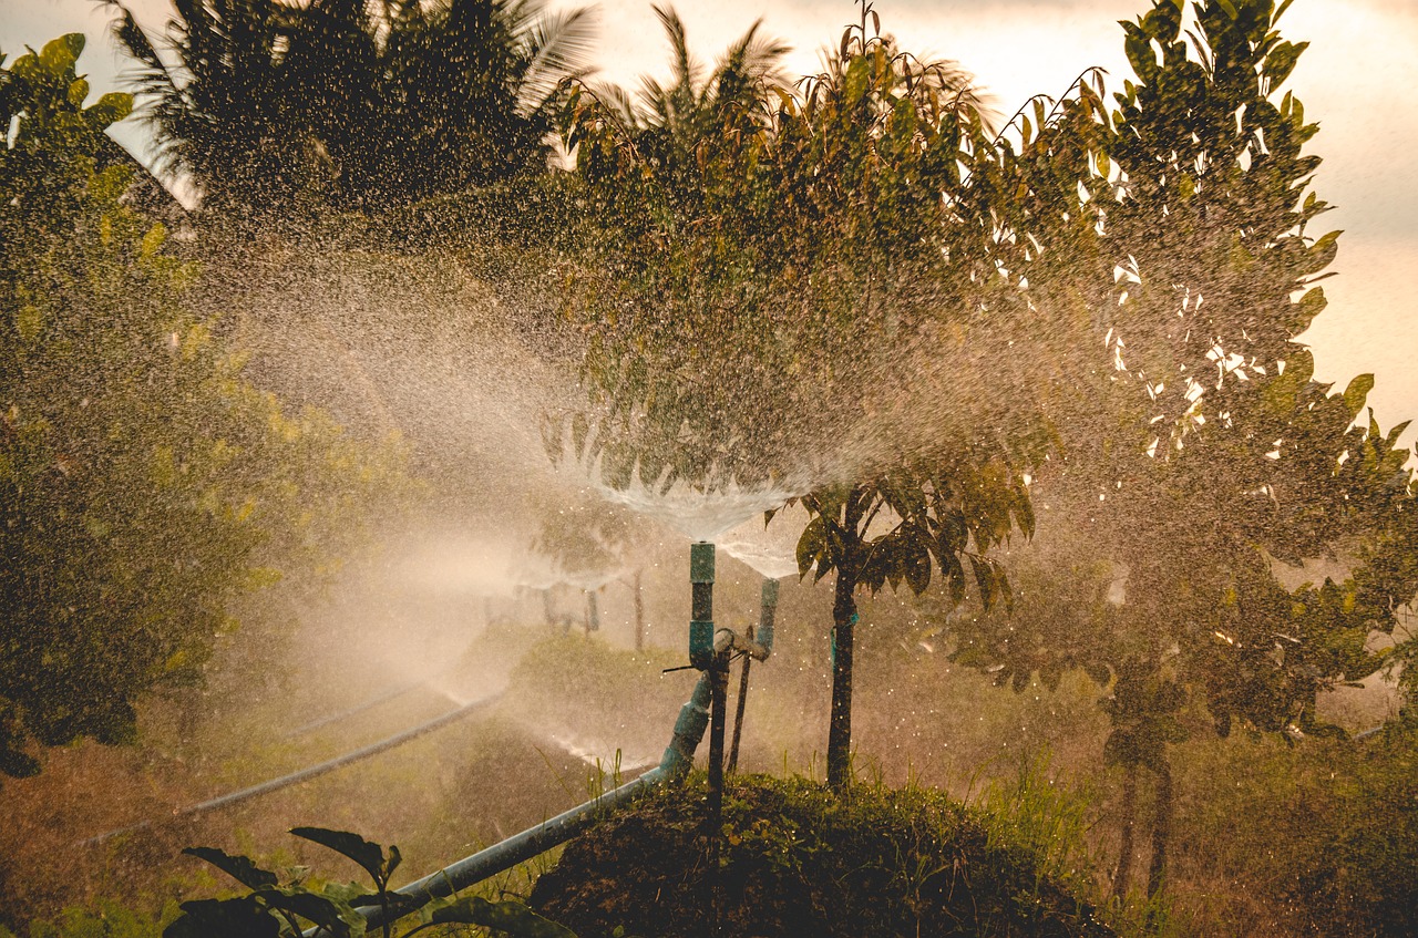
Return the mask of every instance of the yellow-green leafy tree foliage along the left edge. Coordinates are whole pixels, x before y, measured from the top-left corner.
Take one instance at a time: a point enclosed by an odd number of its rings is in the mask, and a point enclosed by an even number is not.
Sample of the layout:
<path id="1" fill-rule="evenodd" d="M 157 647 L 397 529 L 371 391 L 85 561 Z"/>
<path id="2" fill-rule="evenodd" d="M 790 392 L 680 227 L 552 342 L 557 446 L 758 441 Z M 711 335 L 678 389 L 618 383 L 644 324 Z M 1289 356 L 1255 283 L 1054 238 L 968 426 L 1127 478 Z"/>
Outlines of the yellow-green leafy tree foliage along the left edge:
<path id="1" fill-rule="evenodd" d="M 200 680 L 240 594 L 319 575 L 398 456 L 282 412 L 213 322 L 196 268 L 125 207 L 67 35 L 0 71 L 0 771 L 31 740 L 130 740 L 153 687 Z M 339 537 L 335 531 L 345 529 Z M 347 540 L 345 543 L 349 543 Z"/>

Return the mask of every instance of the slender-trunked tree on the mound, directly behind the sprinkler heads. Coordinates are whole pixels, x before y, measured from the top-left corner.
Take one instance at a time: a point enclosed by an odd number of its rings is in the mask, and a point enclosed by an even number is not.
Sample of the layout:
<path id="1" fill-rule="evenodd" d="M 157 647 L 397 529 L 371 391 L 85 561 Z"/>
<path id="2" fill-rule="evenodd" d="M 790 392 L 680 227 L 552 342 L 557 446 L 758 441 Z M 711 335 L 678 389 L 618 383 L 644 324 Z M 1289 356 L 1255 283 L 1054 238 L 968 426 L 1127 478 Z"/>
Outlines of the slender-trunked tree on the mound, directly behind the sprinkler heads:
<path id="1" fill-rule="evenodd" d="M 571 125 L 596 237 L 573 285 L 598 408 L 577 443 L 600 448 L 613 483 L 801 493 L 800 570 L 837 582 L 828 778 L 842 788 L 856 589 L 920 591 L 939 570 L 956 601 L 971 575 L 986 602 L 1008 595 L 988 554 L 1031 530 L 1038 368 L 1058 361 L 1021 353 L 1076 330 L 1046 322 L 1001 261 L 1015 180 L 956 67 L 902 52 L 864 4 L 800 94 L 739 79 L 753 33 L 695 89 L 664 18 L 674 89 L 640 123 L 627 95 L 583 92 Z"/>

